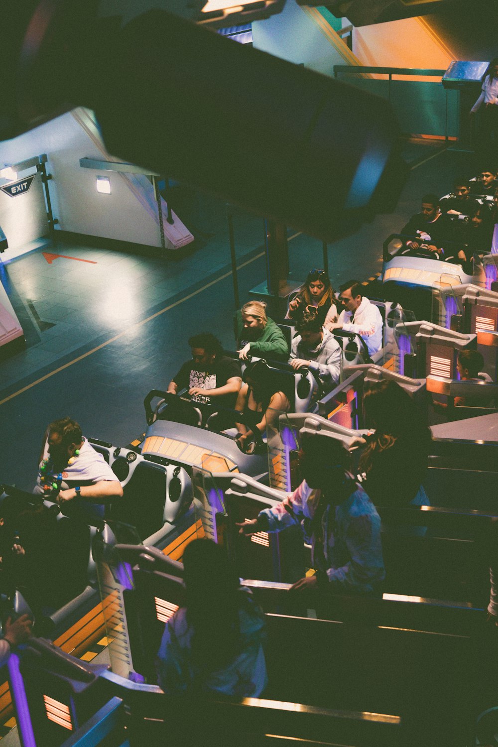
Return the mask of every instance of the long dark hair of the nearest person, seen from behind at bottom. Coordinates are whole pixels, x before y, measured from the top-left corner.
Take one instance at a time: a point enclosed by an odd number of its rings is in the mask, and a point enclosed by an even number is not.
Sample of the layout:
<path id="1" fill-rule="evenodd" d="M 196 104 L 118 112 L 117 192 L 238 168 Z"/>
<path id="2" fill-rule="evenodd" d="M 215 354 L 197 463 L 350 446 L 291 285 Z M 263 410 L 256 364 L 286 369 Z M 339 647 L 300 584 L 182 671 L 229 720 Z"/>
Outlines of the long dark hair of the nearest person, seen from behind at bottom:
<path id="1" fill-rule="evenodd" d="M 225 551 L 211 539 L 190 542 L 183 563 L 193 661 L 205 672 L 213 672 L 242 648 L 239 578 Z"/>

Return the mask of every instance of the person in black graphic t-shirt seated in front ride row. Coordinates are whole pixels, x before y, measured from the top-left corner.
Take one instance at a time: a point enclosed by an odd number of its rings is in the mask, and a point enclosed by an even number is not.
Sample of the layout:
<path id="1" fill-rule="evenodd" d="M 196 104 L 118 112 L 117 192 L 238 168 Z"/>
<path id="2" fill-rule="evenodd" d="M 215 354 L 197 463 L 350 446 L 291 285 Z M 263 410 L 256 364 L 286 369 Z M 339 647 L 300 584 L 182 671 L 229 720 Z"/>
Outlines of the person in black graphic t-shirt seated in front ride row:
<path id="1" fill-rule="evenodd" d="M 188 344 L 192 359 L 173 376 L 167 391 L 188 389 L 199 405 L 233 409 L 242 384 L 239 362 L 223 355 L 220 340 L 210 332 L 194 335 Z"/>

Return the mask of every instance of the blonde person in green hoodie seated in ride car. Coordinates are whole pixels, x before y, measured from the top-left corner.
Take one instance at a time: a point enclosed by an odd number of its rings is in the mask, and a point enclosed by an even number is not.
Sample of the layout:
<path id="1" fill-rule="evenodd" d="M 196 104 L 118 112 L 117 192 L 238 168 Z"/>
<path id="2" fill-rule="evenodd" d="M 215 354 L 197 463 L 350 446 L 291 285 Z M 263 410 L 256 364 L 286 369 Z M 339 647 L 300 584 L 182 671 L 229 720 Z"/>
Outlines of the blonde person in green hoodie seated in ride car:
<path id="1" fill-rule="evenodd" d="M 273 319 L 267 317 L 267 305 L 263 301 L 249 301 L 235 312 L 234 332 L 239 358 L 267 358 L 287 361 L 289 347 L 284 333 Z"/>

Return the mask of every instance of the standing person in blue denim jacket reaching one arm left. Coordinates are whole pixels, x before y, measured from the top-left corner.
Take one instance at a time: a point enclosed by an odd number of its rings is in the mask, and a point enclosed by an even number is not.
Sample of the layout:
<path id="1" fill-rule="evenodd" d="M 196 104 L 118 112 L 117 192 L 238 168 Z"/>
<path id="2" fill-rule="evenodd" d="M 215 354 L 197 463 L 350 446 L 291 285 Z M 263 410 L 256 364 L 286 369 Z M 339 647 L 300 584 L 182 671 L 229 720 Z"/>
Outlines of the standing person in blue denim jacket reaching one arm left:
<path id="1" fill-rule="evenodd" d="M 238 525 L 241 534 L 251 535 L 301 524 L 317 572 L 296 581 L 293 589 L 323 585 L 340 594 L 380 590 L 385 577 L 381 520 L 367 493 L 346 471 L 347 456 L 335 438 L 303 436 L 302 483 L 277 506 Z"/>

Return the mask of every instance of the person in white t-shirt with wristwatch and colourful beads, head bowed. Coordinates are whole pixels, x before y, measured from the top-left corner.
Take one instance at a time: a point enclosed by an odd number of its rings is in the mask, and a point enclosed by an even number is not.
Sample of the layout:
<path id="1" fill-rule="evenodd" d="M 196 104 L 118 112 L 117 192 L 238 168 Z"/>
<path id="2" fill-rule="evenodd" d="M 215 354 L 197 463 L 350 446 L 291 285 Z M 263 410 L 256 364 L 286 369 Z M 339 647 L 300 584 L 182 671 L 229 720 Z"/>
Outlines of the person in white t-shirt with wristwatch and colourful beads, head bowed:
<path id="1" fill-rule="evenodd" d="M 111 467 L 71 418 L 60 418 L 49 425 L 33 492 L 60 506 L 74 501 L 101 518 L 105 503 L 122 498 L 121 483 Z"/>

